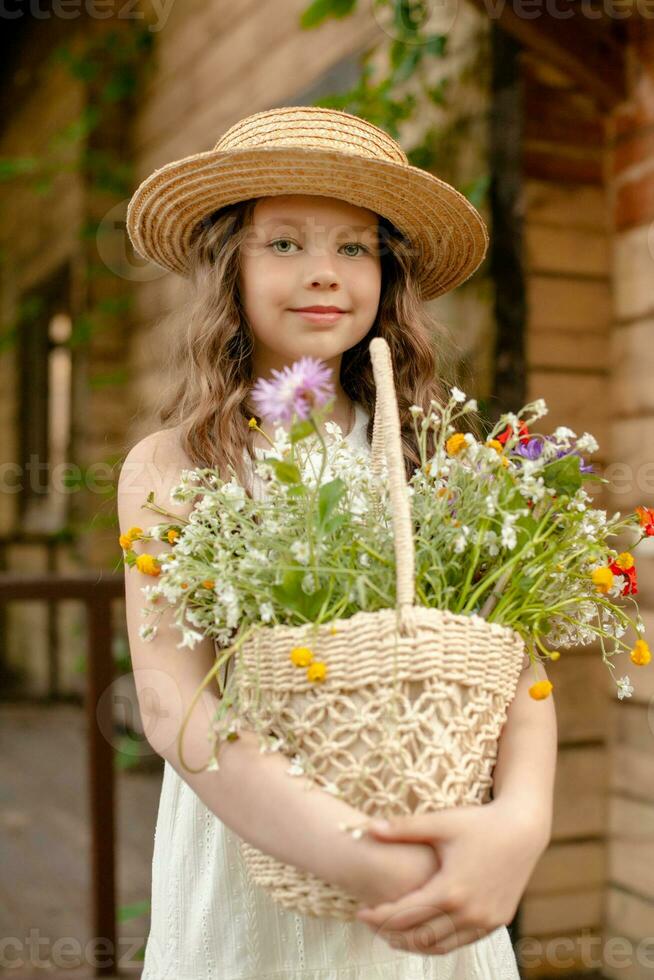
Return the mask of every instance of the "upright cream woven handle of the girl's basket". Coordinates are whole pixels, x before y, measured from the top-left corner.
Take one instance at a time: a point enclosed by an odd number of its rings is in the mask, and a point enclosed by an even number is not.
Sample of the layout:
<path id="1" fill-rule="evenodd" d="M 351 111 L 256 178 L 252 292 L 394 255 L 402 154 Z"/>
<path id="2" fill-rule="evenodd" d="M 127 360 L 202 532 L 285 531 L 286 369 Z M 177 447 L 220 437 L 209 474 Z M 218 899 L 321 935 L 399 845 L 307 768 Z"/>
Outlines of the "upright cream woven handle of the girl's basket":
<path id="1" fill-rule="evenodd" d="M 388 467 L 391 514 L 395 543 L 397 611 L 403 632 L 409 626 L 415 597 L 415 547 L 409 488 L 400 437 L 400 414 L 393 382 L 393 364 L 388 342 L 373 337 L 368 345 L 375 377 L 375 421 L 372 431 L 372 472 L 381 473 L 384 456 Z"/>

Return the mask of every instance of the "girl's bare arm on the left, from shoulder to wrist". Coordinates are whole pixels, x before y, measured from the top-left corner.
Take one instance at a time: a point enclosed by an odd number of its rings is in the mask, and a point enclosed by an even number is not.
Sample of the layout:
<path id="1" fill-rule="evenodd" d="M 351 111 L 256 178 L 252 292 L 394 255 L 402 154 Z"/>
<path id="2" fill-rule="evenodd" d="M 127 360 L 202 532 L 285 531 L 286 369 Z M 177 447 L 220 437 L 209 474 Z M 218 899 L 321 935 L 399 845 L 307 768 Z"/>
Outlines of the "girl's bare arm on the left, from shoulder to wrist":
<path id="1" fill-rule="evenodd" d="M 121 533 L 130 527 L 143 530 L 165 518 L 142 508 L 150 490 L 155 503 L 186 517 L 190 502 L 170 500 L 170 489 L 179 482 L 190 461 L 180 458 L 172 433 L 155 433 L 138 443 L 123 464 L 118 486 Z M 169 551 L 164 542 L 135 545 L 141 553 Z M 218 752 L 220 768 L 190 772 L 179 759 L 177 736 L 189 705 L 203 678 L 215 663 L 213 643 L 206 638 L 193 649 L 177 648 L 180 631 L 173 610 L 157 620 L 154 639 L 144 642 L 139 626 L 144 585 L 156 578 L 125 568 L 126 616 L 134 680 L 144 734 L 155 752 L 167 760 L 203 803 L 241 838 L 287 864 L 312 872 L 344 888 L 364 904 L 398 898 L 426 881 L 438 866 L 429 845 L 384 844 L 359 840 L 339 830 L 339 823 L 363 823 L 366 816 L 306 777 L 287 773 L 290 762 L 278 752 L 262 754 L 254 732 L 241 729 L 235 741 L 223 743 Z M 198 699 L 183 739 L 183 758 L 196 769 L 210 758 L 208 734 L 219 698 L 210 688 Z M 312 787 L 312 788 L 309 788 Z"/>

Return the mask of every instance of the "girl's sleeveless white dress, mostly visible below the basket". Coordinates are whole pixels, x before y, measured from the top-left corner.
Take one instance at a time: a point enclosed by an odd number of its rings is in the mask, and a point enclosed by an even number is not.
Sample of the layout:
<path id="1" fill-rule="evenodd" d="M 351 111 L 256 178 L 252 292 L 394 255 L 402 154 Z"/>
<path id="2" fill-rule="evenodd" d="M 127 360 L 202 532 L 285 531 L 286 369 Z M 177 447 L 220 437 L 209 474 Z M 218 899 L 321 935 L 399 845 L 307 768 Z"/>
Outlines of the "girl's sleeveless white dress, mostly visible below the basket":
<path id="1" fill-rule="evenodd" d="M 369 453 L 357 404 L 346 437 Z M 304 916 L 252 884 L 239 837 L 164 763 L 141 980 L 520 980 L 508 929 L 439 956 L 395 950 L 363 922 Z"/>

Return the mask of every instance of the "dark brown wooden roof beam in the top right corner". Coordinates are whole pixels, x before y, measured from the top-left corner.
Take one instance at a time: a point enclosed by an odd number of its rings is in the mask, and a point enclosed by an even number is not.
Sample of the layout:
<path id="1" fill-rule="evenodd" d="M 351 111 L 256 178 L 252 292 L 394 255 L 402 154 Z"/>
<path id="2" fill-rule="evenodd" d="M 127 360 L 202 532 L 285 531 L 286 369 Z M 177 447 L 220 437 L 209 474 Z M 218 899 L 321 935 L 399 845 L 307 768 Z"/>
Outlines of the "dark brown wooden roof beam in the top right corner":
<path id="1" fill-rule="evenodd" d="M 623 24 L 600 8 L 572 0 L 472 2 L 507 34 L 583 86 L 603 108 L 626 98 Z"/>

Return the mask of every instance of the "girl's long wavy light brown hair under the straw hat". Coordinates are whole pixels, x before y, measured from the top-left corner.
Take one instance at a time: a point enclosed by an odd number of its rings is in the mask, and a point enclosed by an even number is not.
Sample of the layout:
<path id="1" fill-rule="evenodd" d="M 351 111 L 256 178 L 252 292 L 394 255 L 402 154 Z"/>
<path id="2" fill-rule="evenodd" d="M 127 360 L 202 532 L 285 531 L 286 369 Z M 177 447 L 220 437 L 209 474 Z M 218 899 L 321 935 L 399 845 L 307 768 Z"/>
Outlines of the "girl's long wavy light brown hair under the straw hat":
<path id="1" fill-rule="evenodd" d="M 254 336 L 238 285 L 240 249 L 253 222 L 259 198 L 214 211 L 195 228 L 191 240 L 191 297 L 169 317 L 175 350 L 171 380 L 157 406 L 160 423 L 179 427 L 182 447 L 197 467 L 215 467 L 225 479 L 228 464 L 251 495 L 243 449 L 253 458 L 257 416 L 250 402 L 256 382 L 252 371 Z M 447 401 L 451 384 L 451 338 L 426 311 L 417 289 L 417 258 L 411 243 L 386 218 L 379 217 L 382 283 L 377 316 L 367 335 L 344 351 L 340 381 L 348 397 L 370 414 L 366 435 L 372 442 L 375 381 L 368 345 L 373 337 L 388 342 L 400 415 L 407 480 L 420 465 L 411 405 L 427 413 L 432 399 Z M 172 321 L 172 323 L 170 323 Z M 258 416 L 257 416 L 258 417 Z M 478 434 L 474 413 L 465 428 Z M 463 419 L 461 420 L 463 421 Z M 428 450 L 433 452 L 432 433 Z"/>

